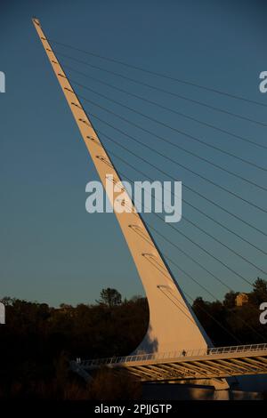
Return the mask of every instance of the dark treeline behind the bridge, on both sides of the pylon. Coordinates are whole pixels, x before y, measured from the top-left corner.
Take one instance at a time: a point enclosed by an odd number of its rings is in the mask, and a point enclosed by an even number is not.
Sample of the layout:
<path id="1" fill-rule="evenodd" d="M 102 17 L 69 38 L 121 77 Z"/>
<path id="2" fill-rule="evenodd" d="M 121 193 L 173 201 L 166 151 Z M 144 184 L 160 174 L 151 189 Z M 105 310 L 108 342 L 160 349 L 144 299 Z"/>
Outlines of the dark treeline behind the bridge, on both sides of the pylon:
<path id="1" fill-rule="evenodd" d="M 236 306 L 237 294 L 227 293 L 223 301 L 197 298 L 193 303 L 215 346 L 267 341 L 267 325 L 259 320 L 259 306 L 267 301 L 267 282 L 258 278 L 243 306 Z M 2 301 L 6 324 L 0 326 L 0 398 L 90 398 L 84 382 L 69 373 L 69 359 L 128 355 L 142 341 L 149 323 L 146 299 L 122 301 L 115 289 L 103 289 L 95 304 L 76 307 Z M 101 371 L 91 394 L 97 397 L 97 385 L 112 379 Z M 122 378 L 124 394 L 127 387 L 132 396 L 137 393 L 135 384 Z"/>

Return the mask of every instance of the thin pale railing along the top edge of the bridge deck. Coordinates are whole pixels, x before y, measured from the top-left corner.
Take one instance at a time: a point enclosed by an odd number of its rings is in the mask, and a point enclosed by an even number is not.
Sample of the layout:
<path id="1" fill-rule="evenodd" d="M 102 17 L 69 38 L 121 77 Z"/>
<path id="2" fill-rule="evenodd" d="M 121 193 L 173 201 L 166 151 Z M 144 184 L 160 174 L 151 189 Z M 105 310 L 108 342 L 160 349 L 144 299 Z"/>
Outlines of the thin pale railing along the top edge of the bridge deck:
<path id="1" fill-rule="evenodd" d="M 250 345 L 236 345 L 231 347 L 217 347 L 199 350 L 179 350 L 169 351 L 165 353 L 150 353 L 150 354 L 134 354 L 125 357 L 112 358 L 94 358 L 90 360 L 80 361 L 81 366 L 101 366 L 112 364 L 123 364 L 134 361 L 148 361 L 148 360 L 165 360 L 167 358 L 191 358 L 201 356 L 211 356 L 214 354 L 238 353 L 246 351 L 261 351 L 267 350 L 267 343 L 265 344 L 250 344 Z"/>

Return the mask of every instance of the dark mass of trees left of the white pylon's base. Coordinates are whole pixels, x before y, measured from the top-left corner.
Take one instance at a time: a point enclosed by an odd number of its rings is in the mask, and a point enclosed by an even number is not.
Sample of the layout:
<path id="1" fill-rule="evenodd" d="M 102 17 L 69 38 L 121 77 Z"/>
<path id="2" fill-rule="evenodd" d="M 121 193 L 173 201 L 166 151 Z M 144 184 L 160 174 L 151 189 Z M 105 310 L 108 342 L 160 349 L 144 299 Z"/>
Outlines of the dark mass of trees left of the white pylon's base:
<path id="1" fill-rule="evenodd" d="M 138 346 L 149 322 L 147 301 L 141 297 L 77 307 L 61 304 L 59 309 L 4 301 L 0 398 L 90 398 L 84 382 L 69 372 L 69 359 L 127 355 Z"/>

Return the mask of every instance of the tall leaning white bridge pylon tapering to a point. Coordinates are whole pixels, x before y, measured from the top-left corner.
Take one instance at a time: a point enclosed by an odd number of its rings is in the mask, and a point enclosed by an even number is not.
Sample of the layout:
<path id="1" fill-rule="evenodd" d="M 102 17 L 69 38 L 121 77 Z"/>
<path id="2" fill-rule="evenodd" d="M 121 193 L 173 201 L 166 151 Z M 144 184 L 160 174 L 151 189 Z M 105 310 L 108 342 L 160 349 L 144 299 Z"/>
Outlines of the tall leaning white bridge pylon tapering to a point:
<path id="1" fill-rule="evenodd" d="M 34 18 L 33 24 L 85 141 L 86 148 L 92 157 L 103 187 L 106 187 L 106 177 L 110 174 L 113 175 L 116 183 L 121 181 L 115 166 L 102 146 L 91 121 L 69 83 L 68 77 L 61 68 L 51 44 L 44 35 L 40 21 Z M 126 193 L 124 188 L 122 190 Z M 111 205 L 114 206 L 121 191 L 114 192 Z M 112 199 L 109 188 L 106 189 L 106 192 L 109 199 Z M 130 197 L 126 201 L 130 202 L 132 211 L 130 213 L 117 213 L 115 211 L 115 213 L 142 280 L 150 308 L 150 324 L 147 334 L 135 352 L 160 353 L 194 349 L 207 350 L 208 347 L 211 347 L 211 342 L 209 342 L 204 329 L 200 326 L 141 216 L 134 210 Z"/>

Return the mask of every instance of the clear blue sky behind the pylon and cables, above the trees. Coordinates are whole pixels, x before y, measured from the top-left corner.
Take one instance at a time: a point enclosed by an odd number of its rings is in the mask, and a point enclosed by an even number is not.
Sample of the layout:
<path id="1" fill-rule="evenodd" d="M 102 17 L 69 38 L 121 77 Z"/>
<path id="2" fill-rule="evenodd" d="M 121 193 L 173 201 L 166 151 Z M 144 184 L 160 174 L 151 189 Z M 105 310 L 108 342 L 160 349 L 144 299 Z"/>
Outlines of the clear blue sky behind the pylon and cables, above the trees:
<path id="1" fill-rule="evenodd" d="M 244 0 L 2 1 L 0 70 L 6 75 L 6 92 L 0 94 L 0 294 L 2 296 L 9 295 L 58 305 L 61 302 L 76 304 L 94 301 L 98 298 L 101 288 L 107 286 L 116 287 L 126 297 L 142 293 L 142 285 L 115 216 L 85 212 L 85 184 L 87 181 L 97 180 L 97 174 L 43 47 L 37 39 L 31 18 L 37 16 L 41 20 L 46 36 L 63 43 L 267 104 L 267 94 L 264 95 L 258 90 L 259 73 L 267 70 L 266 9 L 264 1 Z M 125 76 L 137 77 L 141 81 L 157 84 L 159 87 L 188 95 L 193 99 L 205 100 L 214 106 L 266 122 L 264 108 L 145 75 L 64 47 L 57 46 L 55 50 L 119 71 Z M 60 55 L 59 59 L 61 59 Z M 106 82 L 123 86 L 131 92 L 150 97 L 151 100 L 157 100 L 172 109 L 266 144 L 264 127 L 223 116 L 210 109 L 171 98 L 164 93 L 153 92 L 89 67 L 82 68 L 71 60 L 62 59 L 62 63 L 101 77 Z M 150 107 L 140 100 L 130 99 L 123 93 L 114 92 L 83 76 L 71 72 L 69 76 L 168 125 L 205 139 L 258 165 L 266 166 L 266 152 L 263 149 L 236 141 L 223 133 L 156 107 Z M 145 126 L 154 133 L 162 134 L 170 141 L 177 141 L 201 157 L 209 158 L 216 164 L 228 167 L 263 186 L 266 185 L 266 174 L 251 166 L 223 156 L 212 149 L 206 149 L 93 93 L 79 88 L 77 92 L 131 118 L 135 123 Z M 257 205 L 266 207 L 266 193 L 207 166 L 174 147 L 163 145 L 155 137 L 122 123 L 116 117 L 110 117 L 93 105 L 85 104 L 85 109 L 89 114 L 92 112 L 109 123 L 125 129 L 140 141 L 150 144 L 182 164 L 254 201 Z M 111 128 L 101 125 L 95 118 L 93 123 L 97 129 L 108 133 L 117 141 L 122 141 L 142 157 L 150 158 L 154 164 L 171 173 L 177 180 L 198 189 L 200 193 L 206 194 L 218 204 L 224 205 L 231 212 L 238 213 L 266 232 L 266 216 L 260 211 L 242 204 L 214 186 L 207 185 L 205 181 L 142 149 L 141 146 L 134 145 Z M 115 145 L 110 145 L 104 138 L 103 142 L 118 155 L 129 158 L 133 165 L 137 165 L 134 157 L 128 156 Z M 115 159 L 114 162 L 118 169 L 125 171 L 122 163 Z M 155 180 L 167 180 L 149 166 L 141 163 L 138 163 L 138 166 Z M 143 180 L 142 176 L 133 170 L 129 170 L 128 175 L 134 180 Z M 267 239 L 260 234 L 214 209 L 189 191 L 183 189 L 183 194 L 205 213 L 214 216 L 240 235 L 266 249 Z M 212 222 L 206 221 L 205 217 L 188 206 L 183 205 L 182 210 L 192 221 L 222 239 L 227 245 L 231 245 L 235 251 L 242 253 L 263 269 L 266 268 L 263 254 L 227 234 Z M 249 290 L 249 286 L 244 285 L 229 270 L 166 225 L 160 225 L 153 215 L 148 215 L 145 219 L 174 240 L 177 245 L 182 246 L 196 260 L 205 264 L 206 268 L 222 277 L 231 287 L 236 290 Z M 233 256 L 205 234 L 190 227 L 185 221 L 177 226 L 247 279 L 264 277 L 262 273 Z M 178 251 L 174 251 L 171 245 L 166 245 L 158 238 L 157 242 L 162 251 L 180 264 L 182 269 L 196 277 L 218 297 L 223 296 L 225 289 L 214 282 L 204 270 L 199 269 Z M 173 266 L 171 268 L 173 269 Z M 200 294 L 207 298 L 206 293 L 192 284 L 179 269 L 173 271 L 187 293 L 194 297 Z"/>

